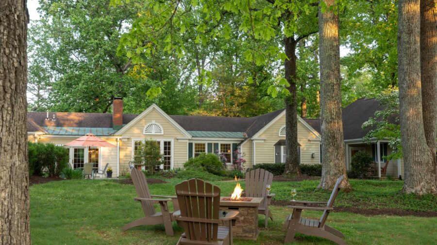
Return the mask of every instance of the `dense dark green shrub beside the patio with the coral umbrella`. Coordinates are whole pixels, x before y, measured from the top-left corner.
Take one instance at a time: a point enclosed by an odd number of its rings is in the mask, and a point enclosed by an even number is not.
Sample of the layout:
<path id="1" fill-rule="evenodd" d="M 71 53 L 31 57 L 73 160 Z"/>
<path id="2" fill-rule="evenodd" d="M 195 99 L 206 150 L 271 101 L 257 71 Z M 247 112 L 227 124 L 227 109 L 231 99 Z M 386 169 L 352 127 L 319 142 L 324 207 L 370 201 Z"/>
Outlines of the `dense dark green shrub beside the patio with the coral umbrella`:
<path id="1" fill-rule="evenodd" d="M 52 143 L 28 142 L 29 173 L 50 177 L 59 177 L 68 166 L 68 149 Z"/>

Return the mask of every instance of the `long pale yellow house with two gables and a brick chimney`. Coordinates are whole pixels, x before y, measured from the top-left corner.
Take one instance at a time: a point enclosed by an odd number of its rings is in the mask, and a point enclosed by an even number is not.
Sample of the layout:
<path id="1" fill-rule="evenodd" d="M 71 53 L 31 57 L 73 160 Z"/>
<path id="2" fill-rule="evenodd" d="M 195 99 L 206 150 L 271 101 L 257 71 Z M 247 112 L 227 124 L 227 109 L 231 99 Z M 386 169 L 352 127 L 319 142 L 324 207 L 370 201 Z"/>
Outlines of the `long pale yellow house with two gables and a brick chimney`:
<path id="1" fill-rule="evenodd" d="M 115 98 L 113 113 L 28 112 L 28 139 L 63 146 L 86 133 L 116 145 L 113 148 L 67 147 L 70 165 L 106 163 L 119 176 L 134 159 L 135 147 L 154 139 L 164 156 L 164 169 L 182 168 L 200 153 L 224 154 L 233 163 L 238 151 L 247 163 L 285 162 L 285 110 L 252 118 L 171 116 L 155 104 L 139 115 L 123 114 L 123 101 Z M 316 129 L 317 130 L 316 130 Z M 298 117 L 300 162 L 320 163 L 319 121 Z"/>

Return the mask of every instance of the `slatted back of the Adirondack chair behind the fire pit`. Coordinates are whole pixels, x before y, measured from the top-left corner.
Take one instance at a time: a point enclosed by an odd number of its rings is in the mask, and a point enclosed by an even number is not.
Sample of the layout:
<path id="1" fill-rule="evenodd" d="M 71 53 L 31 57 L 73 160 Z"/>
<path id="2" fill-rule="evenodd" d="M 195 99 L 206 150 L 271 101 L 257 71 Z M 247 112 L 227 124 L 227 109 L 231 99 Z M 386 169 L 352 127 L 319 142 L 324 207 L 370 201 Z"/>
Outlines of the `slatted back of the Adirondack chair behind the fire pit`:
<path id="1" fill-rule="evenodd" d="M 273 174 L 262 168 L 253 169 L 246 172 L 246 197 L 264 198 L 267 195 L 266 186 L 271 185 Z M 259 204 L 260 208 L 265 208 L 265 199 Z"/>

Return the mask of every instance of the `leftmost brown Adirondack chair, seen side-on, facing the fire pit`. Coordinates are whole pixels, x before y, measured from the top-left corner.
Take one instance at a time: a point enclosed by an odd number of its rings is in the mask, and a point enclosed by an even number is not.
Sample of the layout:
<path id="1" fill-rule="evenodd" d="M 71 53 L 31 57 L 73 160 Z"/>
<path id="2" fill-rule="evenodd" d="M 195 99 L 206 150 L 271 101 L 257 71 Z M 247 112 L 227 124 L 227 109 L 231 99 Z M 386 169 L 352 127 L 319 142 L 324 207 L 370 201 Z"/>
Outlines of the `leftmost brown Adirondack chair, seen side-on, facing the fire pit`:
<path id="1" fill-rule="evenodd" d="M 128 230 L 133 227 L 142 225 L 164 224 L 167 235 L 172 236 L 174 234 L 173 227 L 171 226 L 171 221 L 174 221 L 173 214 L 179 212 L 176 211 L 179 209 L 177 197 L 151 195 L 149 191 L 149 186 L 147 185 L 146 176 L 143 174 L 143 172 L 136 168 L 132 168 L 131 177 L 132 181 L 134 182 L 136 194 L 138 194 L 138 197 L 134 198 L 134 200 L 141 202 L 145 217 L 125 225 L 123 227 L 123 230 Z M 168 201 L 173 202 L 173 210 L 175 210 L 176 212 L 170 212 L 168 210 Z M 156 202 L 159 203 L 159 206 L 161 207 L 161 212 L 155 212 L 153 203 Z"/>

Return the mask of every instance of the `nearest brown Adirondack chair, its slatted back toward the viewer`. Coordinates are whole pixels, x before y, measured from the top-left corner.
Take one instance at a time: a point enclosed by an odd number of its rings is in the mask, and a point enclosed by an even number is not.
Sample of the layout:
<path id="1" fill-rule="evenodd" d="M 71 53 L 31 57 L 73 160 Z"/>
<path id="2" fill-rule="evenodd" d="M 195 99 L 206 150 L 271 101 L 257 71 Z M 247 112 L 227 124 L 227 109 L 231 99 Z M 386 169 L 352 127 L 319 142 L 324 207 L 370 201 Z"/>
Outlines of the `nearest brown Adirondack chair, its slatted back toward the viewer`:
<path id="1" fill-rule="evenodd" d="M 176 217 L 184 228 L 177 245 L 232 245 L 232 226 L 237 211 L 219 218 L 220 188 L 199 179 L 191 179 L 176 185 L 181 215 Z M 229 227 L 218 226 L 228 221 Z"/>

